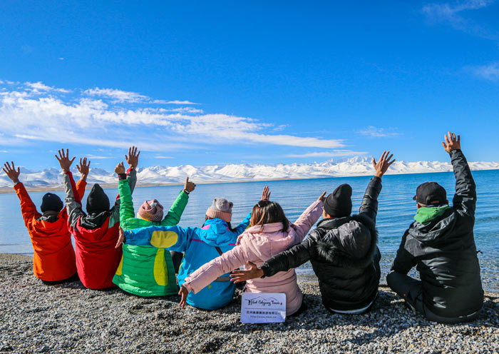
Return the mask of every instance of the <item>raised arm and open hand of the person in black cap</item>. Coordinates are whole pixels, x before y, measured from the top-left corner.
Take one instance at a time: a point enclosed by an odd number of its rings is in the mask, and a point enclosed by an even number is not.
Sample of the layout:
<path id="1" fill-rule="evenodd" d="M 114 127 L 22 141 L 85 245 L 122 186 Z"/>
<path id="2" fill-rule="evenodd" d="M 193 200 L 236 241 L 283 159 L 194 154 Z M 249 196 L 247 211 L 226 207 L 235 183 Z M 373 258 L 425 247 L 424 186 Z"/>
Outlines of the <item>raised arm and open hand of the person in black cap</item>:
<path id="1" fill-rule="evenodd" d="M 453 208 L 461 216 L 475 218 L 476 185 L 471 175 L 470 166 L 461 151 L 461 136 L 448 132 L 444 136 L 443 148 L 451 155 L 451 163 L 456 176 L 456 194 L 453 198 Z"/>

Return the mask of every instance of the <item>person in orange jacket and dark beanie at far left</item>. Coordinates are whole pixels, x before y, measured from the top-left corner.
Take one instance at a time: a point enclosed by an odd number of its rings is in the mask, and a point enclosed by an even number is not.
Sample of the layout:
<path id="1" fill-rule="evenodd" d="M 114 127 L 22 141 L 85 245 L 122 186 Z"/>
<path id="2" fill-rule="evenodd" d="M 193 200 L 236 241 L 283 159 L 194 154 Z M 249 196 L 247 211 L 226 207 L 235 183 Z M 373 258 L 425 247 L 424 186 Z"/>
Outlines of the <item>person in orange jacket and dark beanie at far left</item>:
<path id="1" fill-rule="evenodd" d="M 78 197 L 85 194 L 86 178 L 90 161 L 86 158 L 76 166 L 81 173 L 76 184 Z M 36 278 L 47 285 L 78 280 L 76 273 L 75 251 L 71 244 L 71 233 L 68 231 L 68 213 L 61 198 L 56 194 L 46 193 L 41 202 L 41 213 L 31 201 L 24 184 L 19 182 L 21 171 L 16 169 L 14 161 L 3 168 L 6 175 L 14 182 L 14 190 L 21 201 L 21 213 L 24 224 L 33 245 L 33 272 Z"/>

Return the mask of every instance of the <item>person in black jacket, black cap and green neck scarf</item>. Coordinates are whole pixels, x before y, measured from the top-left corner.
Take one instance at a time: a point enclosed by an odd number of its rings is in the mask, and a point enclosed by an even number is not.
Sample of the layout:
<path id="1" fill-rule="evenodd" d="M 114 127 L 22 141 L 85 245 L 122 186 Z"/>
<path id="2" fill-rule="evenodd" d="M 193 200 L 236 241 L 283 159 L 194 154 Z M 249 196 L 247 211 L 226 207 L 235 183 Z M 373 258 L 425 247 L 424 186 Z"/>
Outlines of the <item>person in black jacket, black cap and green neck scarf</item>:
<path id="1" fill-rule="evenodd" d="M 456 176 L 453 206 L 438 183 L 418 186 L 416 221 L 403 235 L 386 282 L 428 320 L 458 323 L 477 318 L 483 289 L 473 236 L 475 181 L 461 151 L 461 137 L 448 132 L 445 141 Z M 415 265 L 421 280 L 407 275 Z"/>

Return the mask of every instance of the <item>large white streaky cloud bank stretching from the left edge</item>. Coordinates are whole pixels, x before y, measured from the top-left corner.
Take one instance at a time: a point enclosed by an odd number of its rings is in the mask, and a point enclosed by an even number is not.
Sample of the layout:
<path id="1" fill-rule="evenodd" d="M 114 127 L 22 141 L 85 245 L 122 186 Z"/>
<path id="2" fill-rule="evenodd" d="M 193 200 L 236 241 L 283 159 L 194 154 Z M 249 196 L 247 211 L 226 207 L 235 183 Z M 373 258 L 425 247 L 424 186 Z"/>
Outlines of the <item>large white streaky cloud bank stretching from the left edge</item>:
<path id="1" fill-rule="evenodd" d="M 0 124 L 6 134 L 2 138 L 5 146 L 26 141 L 115 148 L 134 143 L 148 151 L 233 143 L 308 148 L 345 146 L 341 139 L 276 134 L 274 125 L 244 116 L 205 113 L 192 107 L 178 107 L 185 108 L 178 111 L 152 108 L 147 96 L 118 89 L 77 89 L 69 98 L 63 91 L 42 83 L 4 85 L 4 89 L 0 91 Z M 110 101 L 101 99 L 103 95 L 111 98 Z"/>

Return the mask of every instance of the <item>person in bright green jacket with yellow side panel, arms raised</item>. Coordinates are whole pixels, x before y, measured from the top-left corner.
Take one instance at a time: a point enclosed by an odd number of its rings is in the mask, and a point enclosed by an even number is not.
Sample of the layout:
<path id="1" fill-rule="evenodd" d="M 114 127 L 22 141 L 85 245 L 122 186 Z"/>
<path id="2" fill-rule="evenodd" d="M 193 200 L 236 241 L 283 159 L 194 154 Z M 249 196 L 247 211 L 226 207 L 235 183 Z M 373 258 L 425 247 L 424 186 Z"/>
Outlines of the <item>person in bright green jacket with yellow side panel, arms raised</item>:
<path id="1" fill-rule="evenodd" d="M 130 151 L 133 153 L 133 151 Z M 135 151 L 136 153 L 136 151 Z M 139 152 L 140 153 L 140 152 Z M 163 206 L 157 200 L 145 201 L 135 217 L 132 193 L 126 179 L 125 168 L 118 163 L 118 192 L 120 193 L 120 226 L 123 230 L 133 230 L 146 226 L 175 226 L 187 206 L 189 193 L 194 191 L 195 183 L 187 180 L 184 189 L 163 218 Z M 118 241 L 116 248 L 121 246 Z M 132 246 L 123 244 L 123 257 L 113 277 L 113 283 L 127 293 L 140 296 L 176 295 L 178 286 L 170 252 L 165 248 L 153 246 Z"/>

